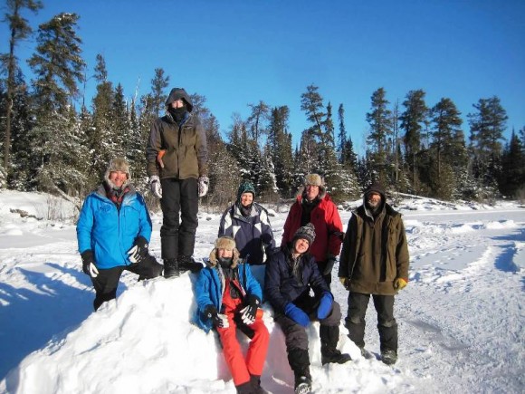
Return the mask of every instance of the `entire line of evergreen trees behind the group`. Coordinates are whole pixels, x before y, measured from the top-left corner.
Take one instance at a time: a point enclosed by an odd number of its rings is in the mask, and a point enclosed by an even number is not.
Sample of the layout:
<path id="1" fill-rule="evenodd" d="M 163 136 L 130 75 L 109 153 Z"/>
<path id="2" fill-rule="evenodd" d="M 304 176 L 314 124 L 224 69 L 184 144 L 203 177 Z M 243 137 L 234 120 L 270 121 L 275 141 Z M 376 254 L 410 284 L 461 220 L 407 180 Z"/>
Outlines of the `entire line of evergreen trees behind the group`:
<path id="1" fill-rule="evenodd" d="M 110 158 L 119 155 L 129 159 L 136 187 L 154 205 L 145 147 L 151 122 L 165 111 L 169 76 L 155 69 L 150 91 L 128 99 L 122 85 L 110 81 L 98 54 L 90 76 L 96 92 L 86 103 L 79 15 L 57 14 L 33 32 L 23 14 L 38 12 L 40 1 L 9 0 L 6 6 L 10 35 L 9 53 L 0 54 L 0 187 L 80 200 L 100 182 Z M 33 72 L 27 82 L 16 46 L 32 34 L 37 45 L 25 60 Z M 234 114 L 223 137 L 205 96 L 194 93 L 192 100 L 208 140 L 211 187 L 203 202 L 210 207 L 228 204 L 242 178 L 253 181 L 261 201 L 289 199 L 310 172 L 325 178 L 339 202 L 358 198 L 376 180 L 391 191 L 445 200 L 525 197 L 525 127 L 512 130 L 505 142 L 507 115 L 496 96 L 472 105 L 467 140 L 461 112 L 450 98 L 428 106 L 425 91 L 415 90 L 401 103 L 390 103 L 387 91 L 378 88 L 365 114 L 369 132 L 363 157 L 349 137 L 343 104 L 334 113 L 313 84 L 301 94 L 309 127 L 301 130 L 295 147 L 286 105 L 248 104 L 250 115 Z"/>

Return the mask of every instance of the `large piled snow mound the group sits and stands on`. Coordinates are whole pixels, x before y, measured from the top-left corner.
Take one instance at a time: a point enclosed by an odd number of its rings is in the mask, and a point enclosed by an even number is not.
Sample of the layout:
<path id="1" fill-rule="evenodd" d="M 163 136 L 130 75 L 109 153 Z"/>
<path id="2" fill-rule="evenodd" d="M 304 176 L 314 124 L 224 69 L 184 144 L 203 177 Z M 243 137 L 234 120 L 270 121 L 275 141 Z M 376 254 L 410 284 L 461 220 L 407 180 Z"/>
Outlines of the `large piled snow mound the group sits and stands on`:
<path id="1" fill-rule="evenodd" d="M 74 331 L 54 337 L 42 350 L 26 357 L 8 374 L 4 382 L 7 392 L 234 392 L 215 333 L 205 333 L 190 323 L 196 303 L 188 294 L 193 294 L 195 280 L 196 275 L 184 274 L 177 279 L 157 278 L 129 286 Z M 263 309 L 271 341 L 262 386 L 275 393 L 289 391 L 293 374 L 284 337 L 267 303 Z M 323 392 L 348 389 L 348 366 L 320 365 L 319 323 L 311 324 L 308 333 L 314 389 L 320 390 L 327 383 L 330 389 Z M 358 348 L 346 333 L 341 326 L 339 348 L 360 359 Z M 247 339 L 241 333 L 238 338 L 246 351 Z M 357 360 L 354 368 L 371 362 Z M 355 373 L 351 381 L 367 387 L 368 392 L 402 384 L 394 370 L 377 360 L 374 364 L 371 373 L 367 367 Z M 380 370 L 381 380 L 377 379 Z"/>

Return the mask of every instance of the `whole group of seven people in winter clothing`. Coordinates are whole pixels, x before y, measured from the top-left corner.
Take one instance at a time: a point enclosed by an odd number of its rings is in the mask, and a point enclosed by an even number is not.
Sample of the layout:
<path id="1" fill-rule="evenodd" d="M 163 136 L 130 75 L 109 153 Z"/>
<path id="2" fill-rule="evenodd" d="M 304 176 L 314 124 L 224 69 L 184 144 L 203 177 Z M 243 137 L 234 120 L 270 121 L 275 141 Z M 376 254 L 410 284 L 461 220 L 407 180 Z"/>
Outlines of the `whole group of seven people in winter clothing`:
<path id="1" fill-rule="evenodd" d="M 383 187 L 375 183 L 367 188 L 343 233 L 323 179 L 309 174 L 291 206 L 278 248 L 269 213 L 254 201 L 253 183 L 244 180 L 221 217 L 215 247 L 203 266 L 193 260 L 193 253 L 198 197 L 205 196 L 209 186 L 205 132 L 184 89 L 170 91 L 166 107 L 166 115 L 151 127 L 146 149 L 151 191 L 160 198 L 163 213 L 164 264 L 149 254 L 151 220 L 132 186 L 129 164 L 113 159 L 100 187 L 86 197 L 77 225 L 82 269 L 95 289 L 94 310 L 116 297 L 124 270 L 138 274 L 139 280 L 197 273 L 196 324 L 217 332 L 237 392 L 265 392 L 261 375 L 270 335 L 261 306 L 267 301 L 284 333 L 295 392 L 307 393 L 310 322 L 320 322 L 322 364 L 351 360 L 337 349 L 342 315 L 330 291 L 340 253 L 339 281 L 348 290 L 348 337 L 367 357 L 365 315 L 371 295 L 381 360 L 395 363 L 394 296 L 408 282 L 409 256 L 403 220 L 387 204 Z M 253 265 L 263 265 L 263 281 L 254 276 Z M 237 329 L 251 340 L 245 356 Z"/>

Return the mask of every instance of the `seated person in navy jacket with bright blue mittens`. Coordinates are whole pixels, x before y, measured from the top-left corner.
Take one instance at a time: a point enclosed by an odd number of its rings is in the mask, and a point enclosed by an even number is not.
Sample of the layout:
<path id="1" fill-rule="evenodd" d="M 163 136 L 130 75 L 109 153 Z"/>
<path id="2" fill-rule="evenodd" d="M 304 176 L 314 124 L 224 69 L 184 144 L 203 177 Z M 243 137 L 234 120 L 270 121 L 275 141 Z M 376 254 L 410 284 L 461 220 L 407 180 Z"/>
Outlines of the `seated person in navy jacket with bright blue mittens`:
<path id="1" fill-rule="evenodd" d="M 284 332 L 296 393 L 311 390 L 308 334 L 305 330 L 310 321 L 320 322 L 322 364 L 342 364 L 351 360 L 348 354 L 337 349 L 341 320 L 339 303 L 334 301 L 314 257 L 307 253 L 315 236 L 311 223 L 300 227 L 291 244 L 282 246 L 266 264 L 264 295 L 272 304 L 275 322 Z M 313 290 L 313 297 L 310 290 Z"/>

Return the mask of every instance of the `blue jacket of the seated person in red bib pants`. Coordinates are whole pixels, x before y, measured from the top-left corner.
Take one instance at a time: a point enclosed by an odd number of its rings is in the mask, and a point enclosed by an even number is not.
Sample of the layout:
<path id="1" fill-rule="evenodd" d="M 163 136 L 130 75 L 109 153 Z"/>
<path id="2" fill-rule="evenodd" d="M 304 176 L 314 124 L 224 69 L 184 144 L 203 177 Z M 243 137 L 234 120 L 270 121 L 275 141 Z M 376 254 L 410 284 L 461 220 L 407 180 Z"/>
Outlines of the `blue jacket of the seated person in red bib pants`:
<path id="1" fill-rule="evenodd" d="M 215 249 L 210 254 L 210 257 L 212 255 L 215 255 Z M 261 285 L 253 277 L 250 264 L 243 263 L 240 259 L 237 260 L 238 264 L 236 264 L 234 269 L 237 270 L 239 283 L 243 287 L 244 292 L 246 292 L 246 295 L 255 295 L 259 300 L 262 300 Z M 196 280 L 197 309 L 195 322 L 205 332 L 209 332 L 213 326 L 211 319 L 205 316 L 205 307 L 213 304 L 217 311 L 220 312 L 223 303 L 224 281 L 221 281 L 218 273 L 216 261 L 210 259 L 210 263 L 200 271 Z"/>

